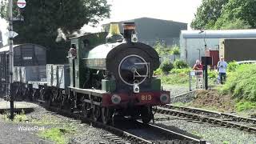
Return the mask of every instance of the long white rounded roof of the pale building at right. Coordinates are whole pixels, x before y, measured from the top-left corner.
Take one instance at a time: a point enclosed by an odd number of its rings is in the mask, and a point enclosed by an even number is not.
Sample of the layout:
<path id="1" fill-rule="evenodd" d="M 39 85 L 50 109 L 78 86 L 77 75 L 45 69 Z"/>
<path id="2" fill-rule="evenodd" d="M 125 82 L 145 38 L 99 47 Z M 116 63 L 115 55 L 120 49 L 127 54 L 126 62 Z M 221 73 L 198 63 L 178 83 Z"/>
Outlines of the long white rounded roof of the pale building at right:
<path id="1" fill-rule="evenodd" d="M 256 38 L 256 30 L 182 30 L 182 38 Z"/>

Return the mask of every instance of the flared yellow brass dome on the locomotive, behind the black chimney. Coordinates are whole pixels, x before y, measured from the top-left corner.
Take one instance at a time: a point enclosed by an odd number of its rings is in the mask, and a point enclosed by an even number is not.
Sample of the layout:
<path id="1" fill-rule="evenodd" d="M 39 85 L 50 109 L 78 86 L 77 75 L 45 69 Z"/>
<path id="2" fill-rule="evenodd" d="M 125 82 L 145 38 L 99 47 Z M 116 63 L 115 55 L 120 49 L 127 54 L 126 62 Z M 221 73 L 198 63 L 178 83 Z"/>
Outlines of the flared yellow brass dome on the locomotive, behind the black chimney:
<path id="1" fill-rule="evenodd" d="M 106 36 L 106 42 L 114 43 L 118 40 L 122 40 L 122 34 L 120 34 L 118 22 L 110 22 L 110 32 Z"/>

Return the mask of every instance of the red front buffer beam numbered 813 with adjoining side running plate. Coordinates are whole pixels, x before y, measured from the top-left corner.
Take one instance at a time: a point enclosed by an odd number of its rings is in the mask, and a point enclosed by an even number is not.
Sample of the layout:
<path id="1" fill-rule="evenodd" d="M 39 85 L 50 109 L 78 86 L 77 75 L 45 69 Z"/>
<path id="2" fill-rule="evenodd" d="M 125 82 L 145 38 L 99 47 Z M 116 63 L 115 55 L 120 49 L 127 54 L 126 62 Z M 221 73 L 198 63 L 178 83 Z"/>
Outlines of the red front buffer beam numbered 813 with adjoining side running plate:
<path id="1" fill-rule="evenodd" d="M 127 93 L 109 93 L 104 90 L 94 89 L 79 89 L 75 87 L 69 87 L 70 91 L 78 94 L 87 94 L 89 98 L 91 96 L 102 98 L 101 102 L 94 102 L 91 99 L 84 99 L 84 102 L 92 103 L 97 106 L 109 107 L 109 106 L 128 106 L 129 103 L 133 103 L 134 106 L 157 106 L 164 105 L 170 102 L 169 91 L 150 91 L 140 92 L 137 94 Z"/>

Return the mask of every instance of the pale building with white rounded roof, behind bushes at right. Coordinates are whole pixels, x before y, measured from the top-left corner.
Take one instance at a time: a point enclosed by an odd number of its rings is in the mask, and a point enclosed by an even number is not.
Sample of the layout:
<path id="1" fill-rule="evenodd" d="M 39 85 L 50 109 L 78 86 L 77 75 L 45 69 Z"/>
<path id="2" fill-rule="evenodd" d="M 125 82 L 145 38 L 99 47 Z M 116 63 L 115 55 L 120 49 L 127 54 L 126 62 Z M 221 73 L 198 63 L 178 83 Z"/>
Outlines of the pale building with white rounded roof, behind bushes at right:
<path id="1" fill-rule="evenodd" d="M 205 50 L 218 50 L 222 38 L 256 38 L 256 30 L 182 30 L 181 58 L 190 66 L 205 55 Z M 206 46 L 205 46 L 206 45 Z"/>

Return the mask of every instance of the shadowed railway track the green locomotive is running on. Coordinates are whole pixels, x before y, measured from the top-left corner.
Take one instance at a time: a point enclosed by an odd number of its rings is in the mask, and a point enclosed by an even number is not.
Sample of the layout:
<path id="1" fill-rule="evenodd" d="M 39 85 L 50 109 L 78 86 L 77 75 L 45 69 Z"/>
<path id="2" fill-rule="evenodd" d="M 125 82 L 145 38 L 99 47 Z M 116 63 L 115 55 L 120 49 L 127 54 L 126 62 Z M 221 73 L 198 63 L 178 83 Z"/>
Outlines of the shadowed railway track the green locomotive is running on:
<path id="1" fill-rule="evenodd" d="M 105 138 L 109 139 L 110 142 L 114 143 L 141 143 L 141 144 L 153 144 L 153 143 L 198 143 L 206 144 L 206 141 L 191 138 L 184 134 L 166 130 L 165 128 L 155 126 L 153 124 L 143 124 L 140 121 L 127 120 L 126 123 L 117 124 L 117 126 L 105 125 L 102 122 L 94 122 L 90 118 L 82 118 L 78 112 L 69 112 L 66 110 L 60 110 L 56 107 L 47 107 L 48 110 L 61 114 L 69 118 L 80 119 L 82 122 L 91 124 L 94 127 L 102 128 L 107 130 L 110 134 L 104 135 Z M 127 123 L 128 122 L 128 123 Z M 127 127 L 128 126 L 128 127 Z M 138 132 L 139 131 L 139 132 Z M 140 134 L 138 134 L 140 133 Z M 150 135 L 150 137 L 144 137 L 143 134 Z M 161 137 L 161 138 L 160 138 Z M 157 142 L 156 139 L 160 138 L 161 142 Z"/>

